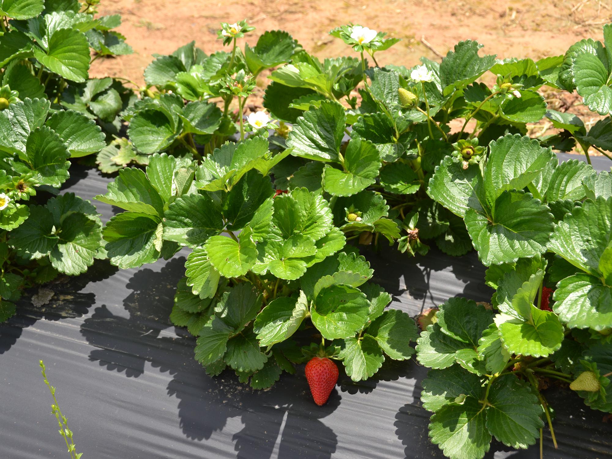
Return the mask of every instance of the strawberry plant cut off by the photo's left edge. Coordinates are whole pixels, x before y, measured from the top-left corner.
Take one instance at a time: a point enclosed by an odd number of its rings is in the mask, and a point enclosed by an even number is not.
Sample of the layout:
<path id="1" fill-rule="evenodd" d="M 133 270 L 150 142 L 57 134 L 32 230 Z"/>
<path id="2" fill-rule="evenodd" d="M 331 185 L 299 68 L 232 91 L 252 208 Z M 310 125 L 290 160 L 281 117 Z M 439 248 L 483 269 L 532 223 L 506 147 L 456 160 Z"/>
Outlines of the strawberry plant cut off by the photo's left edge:
<path id="1" fill-rule="evenodd" d="M 134 97 L 117 80 L 88 80 L 92 60 L 132 52 L 111 30 L 121 18 L 94 18 L 96 4 L 0 3 L 0 321 L 24 288 L 105 257 L 95 207 L 58 195 L 70 159 L 105 148 L 102 127 L 118 132 Z"/>

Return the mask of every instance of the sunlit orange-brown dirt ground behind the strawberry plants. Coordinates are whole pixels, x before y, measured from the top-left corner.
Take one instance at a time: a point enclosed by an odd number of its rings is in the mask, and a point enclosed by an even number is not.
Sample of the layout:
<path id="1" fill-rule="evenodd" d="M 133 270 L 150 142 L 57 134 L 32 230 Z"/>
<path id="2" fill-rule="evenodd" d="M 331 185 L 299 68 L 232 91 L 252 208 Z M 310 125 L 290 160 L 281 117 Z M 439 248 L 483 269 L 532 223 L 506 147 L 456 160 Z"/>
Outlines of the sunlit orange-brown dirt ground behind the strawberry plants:
<path id="1" fill-rule="evenodd" d="M 122 76 L 143 84 L 152 53 L 170 54 L 191 40 L 206 53 L 220 50 L 222 43 L 216 35 L 222 21 L 246 18 L 256 27 L 240 40 L 241 45 L 254 45 L 266 30 L 283 29 L 321 58 L 356 54 L 328 32 L 340 24 L 360 23 L 402 39 L 376 54 L 380 65 L 411 67 L 420 56 L 439 61 L 465 39 L 477 40 L 484 45 L 481 53 L 497 54 L 498 58 L 539 59 L 563 54 L 583 38 L 601 39 L 602 25 L 612 22 L 612 1 L 103 0 L 99 12 L 122 15 L 119 31 L 135 53 L 95 61 L 91 76 Z M 265 78 L 260 84 L 265 86 Z M 545 97 L 551 108 L 584 113 L 587 124 L 600 118 L 585 110 L 575 95 L 548 91 Z M 547 122 L 534 129 L 548 132 Z"/>

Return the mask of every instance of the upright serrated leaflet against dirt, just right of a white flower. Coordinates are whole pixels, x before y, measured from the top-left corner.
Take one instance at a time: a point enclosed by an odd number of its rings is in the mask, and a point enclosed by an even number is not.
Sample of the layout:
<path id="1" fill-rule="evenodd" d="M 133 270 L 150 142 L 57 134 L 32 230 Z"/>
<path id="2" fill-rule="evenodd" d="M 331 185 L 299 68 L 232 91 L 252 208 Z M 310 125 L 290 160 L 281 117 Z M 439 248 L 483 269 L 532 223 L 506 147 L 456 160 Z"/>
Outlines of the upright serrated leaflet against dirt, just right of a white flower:
<path id="1" fill-rule="evenodd" d="M 478 55 L 478 50 L 482 46 L 472 40 L 465 40 L 465 42 L 457 43 L 455 50 L 446 54 L 440 64 L 442 94 L 449 95 L 456 89 L 465 88 L 493 67 L 494 54 L 488 54 L 482 58 Z"/>

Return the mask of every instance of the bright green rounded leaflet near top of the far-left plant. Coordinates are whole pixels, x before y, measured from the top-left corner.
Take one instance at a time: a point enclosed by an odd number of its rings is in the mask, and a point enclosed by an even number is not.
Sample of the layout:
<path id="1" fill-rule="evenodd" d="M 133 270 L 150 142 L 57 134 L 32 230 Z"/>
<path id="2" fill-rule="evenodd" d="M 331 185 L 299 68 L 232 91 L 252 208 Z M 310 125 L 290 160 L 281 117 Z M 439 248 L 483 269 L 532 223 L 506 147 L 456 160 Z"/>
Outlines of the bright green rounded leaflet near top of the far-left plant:
<path id="1" fill-rule="evenodd" d="M 88 78 L 89 43 L 85 34 L 76 29 L 56 30 L 46 51 L 34 47 L 34 57 L 66 80 L 83 83 Z"/>

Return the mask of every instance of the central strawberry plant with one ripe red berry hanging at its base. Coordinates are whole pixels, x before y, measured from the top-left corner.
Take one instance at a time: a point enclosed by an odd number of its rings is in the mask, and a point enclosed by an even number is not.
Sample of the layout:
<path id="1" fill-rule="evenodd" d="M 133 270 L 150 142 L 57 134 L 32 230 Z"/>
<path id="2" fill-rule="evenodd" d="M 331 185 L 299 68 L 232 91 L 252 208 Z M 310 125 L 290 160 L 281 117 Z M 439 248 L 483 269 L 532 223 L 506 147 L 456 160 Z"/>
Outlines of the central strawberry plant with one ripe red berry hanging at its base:
<path id="1" fill-rule="evenodd" d="M 136 267 L 192 249 L 170 319 L 197 337 L 195 358 L 210 375 L 229 367 L 263 389 L 308 356 L 341 360 L 354 381 L 386 358 L 408 359 L 416 325 L 385 310 L 390 295 L 345 245 L 334 223 L 346 209 L 304 187 L 275 193 L 269 170 L 289 152 L 268 148 L 255 136 L 199 165 L 155 153 L 146 171 L 119 171 L 96 198 L 126 211 L 103 230 L 111 263 Z"/>

